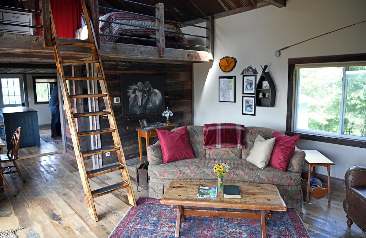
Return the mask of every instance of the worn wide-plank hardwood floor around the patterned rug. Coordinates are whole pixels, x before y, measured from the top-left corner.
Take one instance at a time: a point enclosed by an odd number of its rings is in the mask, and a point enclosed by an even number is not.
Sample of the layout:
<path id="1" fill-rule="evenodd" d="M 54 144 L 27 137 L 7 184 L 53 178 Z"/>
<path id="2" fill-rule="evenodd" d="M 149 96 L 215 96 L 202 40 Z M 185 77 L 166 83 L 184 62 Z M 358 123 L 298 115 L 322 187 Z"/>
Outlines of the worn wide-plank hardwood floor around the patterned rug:
<path id="1" fill-rule="evenodd" d="M 29 147 L 26 151 L 33 150 Z M 91 167 L 90 160 L 86 164 Z M 27 158 L 19 160 L 18 165 L 26 183 L 18 174 L 5 175 L 17 196 L 7 188 L 0 193 L 0 230 L 24 227 L 16 232 L 19 238 L 108 237 L 130 208 L 124 190 L 114 192 L 94 199 L 99 222 L 90 219 L 76 160 L 69 154 Z M 136 166 L 128 167 L 132 180 Z M 90 184 L 95 189 L 99 184 L 116 183 L 120 176 L 119 172 L 105 174 L 93 178 Z M 137 192 L 135 182 L 132 184 L 136 199 L 148 196 L 146 189 L 139 187 Z M 366 237 L 355 224 L 347 228 L 344 196 L 343 187 L 333 186 L 330 207 L 324 197 L 298 210 L 312 238 Z"/>

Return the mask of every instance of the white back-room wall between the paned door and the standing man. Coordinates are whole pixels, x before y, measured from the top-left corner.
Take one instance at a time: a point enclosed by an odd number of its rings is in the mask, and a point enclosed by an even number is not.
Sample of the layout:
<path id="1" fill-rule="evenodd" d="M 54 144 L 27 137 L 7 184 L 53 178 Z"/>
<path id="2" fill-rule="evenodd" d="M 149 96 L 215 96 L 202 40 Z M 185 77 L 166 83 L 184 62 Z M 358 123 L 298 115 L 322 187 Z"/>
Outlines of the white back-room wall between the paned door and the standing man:
<path id="1" fill-rule="evenodd" d="M 27 92 L 29 107 L 38 110 L 38 124 L 51 124 L 51 111 L 49 110 L 48 103 L 34 104 L 34 92 L 33 92 L 33 79 L 31 74 L 27 74 Z M 44 75 L 42 75 L 44 76 Z M 30 99 L 30 100 L 29 100 Z M 51 130 L 51 129 L 50 129 Z"/>

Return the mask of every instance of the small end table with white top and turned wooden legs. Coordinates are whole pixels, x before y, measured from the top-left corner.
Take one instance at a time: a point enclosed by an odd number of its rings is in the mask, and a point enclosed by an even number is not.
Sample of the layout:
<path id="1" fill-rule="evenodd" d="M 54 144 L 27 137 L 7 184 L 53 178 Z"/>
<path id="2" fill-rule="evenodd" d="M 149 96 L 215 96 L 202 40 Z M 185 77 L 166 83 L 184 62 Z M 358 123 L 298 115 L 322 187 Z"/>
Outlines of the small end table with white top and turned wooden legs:
<path id="1" fill-rule="evenodd" d="M 303 150 L 305 151 L 305 162 L 309 165 L 307 176 L 307 189 L 306 189 L 306 205 L 309 205 L 309 193 L 310 193 L 310 173 L 313 168 L 313 177 L 315 176 L 315 166 L 324 166 L 328 169 L 328 206 L 330 206 L 330 165 L 336 165 L 330 161 L 327 157 L 321 154 L 317 150 Z"/>

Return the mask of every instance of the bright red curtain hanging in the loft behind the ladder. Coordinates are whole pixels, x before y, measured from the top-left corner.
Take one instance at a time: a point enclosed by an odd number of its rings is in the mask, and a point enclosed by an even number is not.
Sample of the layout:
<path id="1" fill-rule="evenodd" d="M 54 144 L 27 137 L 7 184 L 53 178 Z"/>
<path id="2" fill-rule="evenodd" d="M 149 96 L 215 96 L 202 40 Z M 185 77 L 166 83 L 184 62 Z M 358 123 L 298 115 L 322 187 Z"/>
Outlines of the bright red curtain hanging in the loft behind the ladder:
<path id="1" fill-rule="evenodd" d="M 74 38 L 75 31 L 81 27 L 81 14 L 83 10 L 80 0 L 50 0 L 50 2 L 57 37 Z M 37 9 L 39 9 L 38 1 L 36 1 L 36 4 Z M 37 16 L 37 22 L 40 23 L 39 15 Z M 37 32 L 38 35 L 41 35 L 40 30 Z"/>

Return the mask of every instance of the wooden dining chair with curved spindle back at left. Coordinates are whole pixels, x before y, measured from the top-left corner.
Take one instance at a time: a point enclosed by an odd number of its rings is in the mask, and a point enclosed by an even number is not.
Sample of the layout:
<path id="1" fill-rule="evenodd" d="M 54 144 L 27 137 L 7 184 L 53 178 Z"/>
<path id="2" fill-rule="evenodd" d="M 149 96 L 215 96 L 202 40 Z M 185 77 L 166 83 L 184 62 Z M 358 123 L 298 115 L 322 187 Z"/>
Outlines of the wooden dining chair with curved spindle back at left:
<path id="1" fill-rule="evenodd" d="M 25 183 L 22 173 L 20 173 L 19 167 L 15 162 L 19 158 L 18 150 L 19 150 L 19 143 L 20 143 L 20 134 L 22 134 L 22 128 L 18 127 L 18 128 L 16 128 L 16 130 L 13 134 L 13 137 L 11 138 L 10 145 L 8 148 L 8 153 L 1 154 L 0 159 L 1 159 L 1 164 L 6 163 L 6 162 L 12 162 L 14 164 L 12 166 L 2 165 L 2 166 L 4 166 L 4 168 L 6 168 L 8 170 L 8 172 L 3 172 L 3 174 L 18 173 L 20 178 L 22 179 L 23 183 Z M 15 168 L 15 170 L 12 171 L 10 168 Z"/>

